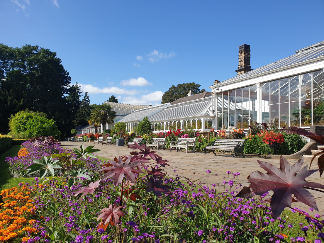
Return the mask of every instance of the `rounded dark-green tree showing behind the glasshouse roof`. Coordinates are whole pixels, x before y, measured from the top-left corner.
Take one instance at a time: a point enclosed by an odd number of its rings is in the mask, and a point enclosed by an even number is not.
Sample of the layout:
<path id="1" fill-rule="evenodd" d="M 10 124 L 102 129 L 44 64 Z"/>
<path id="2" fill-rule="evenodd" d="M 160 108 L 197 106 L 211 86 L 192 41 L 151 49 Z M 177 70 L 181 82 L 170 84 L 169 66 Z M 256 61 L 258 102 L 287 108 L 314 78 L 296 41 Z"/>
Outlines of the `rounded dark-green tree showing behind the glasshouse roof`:
<path id="1" fill-rule="evenodd" d="M 204 88 L 200 90 L 200 86 L 200 84 L 195 84 L 194 82 L 178 84 L 177 86 L 172 85 L 171 87 L 169 87 L 169 90 L 165 92 L 162 96 L 161 104 L 165 104 L 168 102 L 175 101 L 179 98 L 186 97 L 188 95 L 189 90 L 191 90 L 192 95 L 206 92 Z"/>

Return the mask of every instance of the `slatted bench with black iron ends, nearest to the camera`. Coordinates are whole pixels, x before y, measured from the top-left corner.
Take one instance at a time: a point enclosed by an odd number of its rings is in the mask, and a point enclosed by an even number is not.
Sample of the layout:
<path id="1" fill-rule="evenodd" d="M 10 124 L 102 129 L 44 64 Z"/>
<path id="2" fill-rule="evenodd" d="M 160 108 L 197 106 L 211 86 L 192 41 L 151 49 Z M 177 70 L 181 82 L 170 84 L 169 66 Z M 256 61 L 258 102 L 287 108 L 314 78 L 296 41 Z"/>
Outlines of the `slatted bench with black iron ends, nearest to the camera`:
<path id="1" fill-rule="evenodd" d="M 243 158 L 245 158 L 243 155 L 245 141 L 246 139 L 216 139 L 213 145 L 207 145 L 203 148 L 203 152 L 205 152 L 204 155 L 206 155 L 208 150 L 213 150 L 214 155 L 216 155 L 215 150 L 234 151 L 232 158 L 234 158 L 236 154 L 242 154 Z"/>

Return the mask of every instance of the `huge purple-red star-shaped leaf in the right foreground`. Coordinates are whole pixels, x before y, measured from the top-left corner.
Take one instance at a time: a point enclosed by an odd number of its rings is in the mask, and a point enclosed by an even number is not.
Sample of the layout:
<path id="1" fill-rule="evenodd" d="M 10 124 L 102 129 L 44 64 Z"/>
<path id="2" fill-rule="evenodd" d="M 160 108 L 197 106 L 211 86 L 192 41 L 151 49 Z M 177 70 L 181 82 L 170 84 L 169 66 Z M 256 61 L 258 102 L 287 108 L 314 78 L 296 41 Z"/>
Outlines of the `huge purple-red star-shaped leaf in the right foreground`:
<path id="1" fill-rule="evenodd" d="M 268 173 L 253 171 L 248 179 L 252 191 L 243 188 L 244 193 L 240 192 L 237 196 L 249 198 L 253 193 L 262 195 L 273 191 L 270 206 L 275 218 L 284 211 L 285 207 L 291 206 L 292 194 L 300 202 L 318 210 L 314 196 L 304 187 L 324 189 L 324 185 L 305 180 L 317 170 L 307 170 L 307 166 L 301 168 L 304 158 L 290 166 L 289 162 L 281 156 L 279 169 L 265 161 L 258 160 L 258 162 Z"/>

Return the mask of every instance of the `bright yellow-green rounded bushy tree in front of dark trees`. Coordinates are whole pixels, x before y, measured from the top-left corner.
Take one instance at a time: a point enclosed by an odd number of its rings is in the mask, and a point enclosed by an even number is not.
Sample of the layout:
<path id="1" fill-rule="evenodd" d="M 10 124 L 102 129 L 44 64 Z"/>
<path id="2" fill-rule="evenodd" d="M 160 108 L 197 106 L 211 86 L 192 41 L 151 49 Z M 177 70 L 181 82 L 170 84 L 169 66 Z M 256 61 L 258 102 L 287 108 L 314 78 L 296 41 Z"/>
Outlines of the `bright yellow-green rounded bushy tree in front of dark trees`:
<path id="1" fill-rule="evenodd" d="M 11 115 L 9 119 L 10 135 L 14 138 L 31 138 L 36 136 L 60 136 L 55 121 L 48 119 L 43 112 L 23 110 Z"/>

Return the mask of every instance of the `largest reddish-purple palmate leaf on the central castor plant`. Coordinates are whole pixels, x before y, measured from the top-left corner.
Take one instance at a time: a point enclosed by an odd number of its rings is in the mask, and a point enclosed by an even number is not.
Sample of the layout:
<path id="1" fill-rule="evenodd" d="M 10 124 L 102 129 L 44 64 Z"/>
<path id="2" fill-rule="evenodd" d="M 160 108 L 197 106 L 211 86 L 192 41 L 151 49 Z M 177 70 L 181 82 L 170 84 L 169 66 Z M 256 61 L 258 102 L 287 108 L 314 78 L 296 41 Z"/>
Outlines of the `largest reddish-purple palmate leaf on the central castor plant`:
<path id="1" fill-rule="evenodd" d="M 118 162 L 114 160 L 108 161 L 112 166 L 105 167 L 100 169 L 100 171 L 107 171 L 103 176 L 103 180 L 112 177 L 115 185 L 121 183 L 121 180 L 126 175 L 127 179 L 135 183 L 135 175 L 134 173 L 143 173 L 142 170 L 135 169 L 136 166 L 142 163 L 142 161 L 133 161 L 131 162 L 131 157 L 127 158 L 125 162 L 123 161 L 123 157 L 119 156 Z"/>

